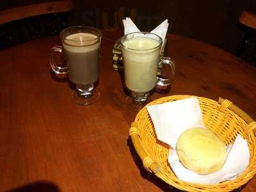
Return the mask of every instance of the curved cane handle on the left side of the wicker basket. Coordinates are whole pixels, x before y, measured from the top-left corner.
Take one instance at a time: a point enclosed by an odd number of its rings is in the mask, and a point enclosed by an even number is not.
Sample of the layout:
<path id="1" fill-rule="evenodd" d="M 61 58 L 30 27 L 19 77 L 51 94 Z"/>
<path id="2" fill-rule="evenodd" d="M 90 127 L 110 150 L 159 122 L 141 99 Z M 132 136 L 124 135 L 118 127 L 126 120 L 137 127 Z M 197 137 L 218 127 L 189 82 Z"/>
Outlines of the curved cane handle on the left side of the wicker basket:
<path id="1" fill-rule="evenodd" d="M 140 156 L 143 166 L 149 172 L 157 173 L 160 170 L 160 166 L 154 161 L 151 157 L 148 156 L 147 152 L 145 152 L 144 148 L 141 145 L 140 141 L 140 132 L 138 131 L 137 124 L 132 122 L 131 128 L 129 129 L 129 136 L 131 136 L 132 144 Z"/>

